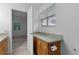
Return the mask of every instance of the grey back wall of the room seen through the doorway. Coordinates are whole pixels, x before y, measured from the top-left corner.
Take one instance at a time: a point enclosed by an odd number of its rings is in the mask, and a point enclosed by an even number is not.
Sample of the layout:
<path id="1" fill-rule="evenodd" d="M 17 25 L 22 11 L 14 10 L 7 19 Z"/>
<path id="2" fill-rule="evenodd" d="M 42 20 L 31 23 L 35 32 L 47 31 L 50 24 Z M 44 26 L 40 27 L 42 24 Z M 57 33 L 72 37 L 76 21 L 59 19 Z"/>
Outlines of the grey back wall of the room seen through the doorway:
<path id="1" fill-rule="evenodd" d="M 19 14 L 16 14 L 16 13 L 19 13 Z M 22 14 L 22 15 L 21 15 Z M 20 27 L 20 30 L 14 30 L 14 27 L 13 27 L 13 36 L 26 36 L 27 34 L 27 15 L 25 12 L 21 12 L 21 11 L 16 11 L 16 12 L 13 12 L 13 26 L 15 23 L 20 23 L 21 24 L 21 27 Z"/>

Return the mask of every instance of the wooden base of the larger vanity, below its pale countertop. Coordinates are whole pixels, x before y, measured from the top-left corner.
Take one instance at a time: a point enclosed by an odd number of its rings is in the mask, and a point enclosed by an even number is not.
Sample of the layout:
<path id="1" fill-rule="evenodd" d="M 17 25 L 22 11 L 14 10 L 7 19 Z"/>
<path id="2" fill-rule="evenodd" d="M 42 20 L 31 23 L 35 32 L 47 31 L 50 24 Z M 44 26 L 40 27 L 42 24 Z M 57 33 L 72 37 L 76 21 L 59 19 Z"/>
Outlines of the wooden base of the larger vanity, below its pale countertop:
<path id="1" fill-rule="evenodd" d="M 51 51 L 52 45 L 57 46 L 54 52 Z M 34 52 L 37 55 L 60 55 L 60 41 L 48 43 L 34 36 Z"/>

